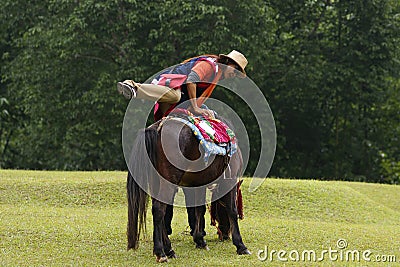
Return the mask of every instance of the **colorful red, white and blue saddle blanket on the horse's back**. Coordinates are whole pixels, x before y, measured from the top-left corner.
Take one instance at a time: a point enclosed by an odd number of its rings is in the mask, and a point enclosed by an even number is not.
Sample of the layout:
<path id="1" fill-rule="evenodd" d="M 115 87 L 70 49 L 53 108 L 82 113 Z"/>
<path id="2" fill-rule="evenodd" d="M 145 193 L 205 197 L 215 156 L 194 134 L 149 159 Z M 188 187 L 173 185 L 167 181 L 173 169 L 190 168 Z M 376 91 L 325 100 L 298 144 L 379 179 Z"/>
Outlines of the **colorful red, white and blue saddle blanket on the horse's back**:
<path id="1" fill-rule="evenodd" d="M 176 114 L 180 116 L 175 116 Z M 204 149 L 205 163 L 208 162 L 211 155 L 231 157 L 237 151 L 234 132 L 221 120 L 195 116 L 186 109 L 176 109 L 168 118 L 178 120 L 192 129 Z"/>

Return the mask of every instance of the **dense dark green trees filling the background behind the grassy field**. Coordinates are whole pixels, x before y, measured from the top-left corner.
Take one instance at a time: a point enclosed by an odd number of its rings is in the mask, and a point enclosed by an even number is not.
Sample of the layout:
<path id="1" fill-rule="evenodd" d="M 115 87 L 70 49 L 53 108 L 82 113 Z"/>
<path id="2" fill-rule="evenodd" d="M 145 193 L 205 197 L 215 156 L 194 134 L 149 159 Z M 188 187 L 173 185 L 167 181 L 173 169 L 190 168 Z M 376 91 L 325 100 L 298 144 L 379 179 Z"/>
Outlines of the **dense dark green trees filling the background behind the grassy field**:
<path id="1" fill-rule="evenodd" d="M 115 83 L 237 49 L 276 119 L 271 175 L 399 182 L 398 1 L 2 4 L 3 168 L 125 168 Z"/>

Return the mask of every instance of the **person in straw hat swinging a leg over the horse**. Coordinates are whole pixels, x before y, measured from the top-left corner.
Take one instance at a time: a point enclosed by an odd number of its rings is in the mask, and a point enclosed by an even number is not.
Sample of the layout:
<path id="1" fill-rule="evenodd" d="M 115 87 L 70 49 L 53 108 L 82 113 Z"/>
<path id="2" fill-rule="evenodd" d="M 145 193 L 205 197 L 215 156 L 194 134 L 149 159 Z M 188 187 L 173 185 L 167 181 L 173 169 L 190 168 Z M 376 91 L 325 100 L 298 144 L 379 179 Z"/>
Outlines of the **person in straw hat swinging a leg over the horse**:
<path id="1" fill-rule="evenodd" d="M 245 77 L 246 57 L 233 50 L 229 54 L 202 55 L 185 60 L 178 67 L 169 69 L 169 73 L 186 75 L 186 81 L 179 88 L 157 84 L 159 79 L 151 84 L 139 84 L 132 80 L 118 82 L 118 92 L 126 98 L 139 98 L 157 101 L 162 116 L 168 114 L 171 107 L 188 101 L 187 106 L 193 113 L 203 116 L 213 116 L 212 111 L 202 109 L 201 104 L 211 95 L 219 80 L 236 76 L 235 69 Z M 159 78 L 159 77 L 157 77 Z M 162 117 L 161 116 L 161 117 Z"/>

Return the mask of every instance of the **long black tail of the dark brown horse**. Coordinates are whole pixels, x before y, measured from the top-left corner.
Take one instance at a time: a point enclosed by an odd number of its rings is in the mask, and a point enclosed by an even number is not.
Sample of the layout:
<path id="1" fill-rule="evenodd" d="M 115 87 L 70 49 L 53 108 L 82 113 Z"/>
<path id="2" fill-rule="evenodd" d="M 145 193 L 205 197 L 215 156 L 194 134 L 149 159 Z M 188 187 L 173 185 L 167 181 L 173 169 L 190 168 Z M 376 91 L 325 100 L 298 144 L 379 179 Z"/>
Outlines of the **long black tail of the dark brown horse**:
<path id="1" fill-rule="evenodd" d="M 154 177 L 157 161 L 157 130 L 148 128 L 140 131 L 132 150 L 127 178 L 128 196 L 128 250 L 137 249 L 140 233 L 146 230 L 148 186 Z"/>

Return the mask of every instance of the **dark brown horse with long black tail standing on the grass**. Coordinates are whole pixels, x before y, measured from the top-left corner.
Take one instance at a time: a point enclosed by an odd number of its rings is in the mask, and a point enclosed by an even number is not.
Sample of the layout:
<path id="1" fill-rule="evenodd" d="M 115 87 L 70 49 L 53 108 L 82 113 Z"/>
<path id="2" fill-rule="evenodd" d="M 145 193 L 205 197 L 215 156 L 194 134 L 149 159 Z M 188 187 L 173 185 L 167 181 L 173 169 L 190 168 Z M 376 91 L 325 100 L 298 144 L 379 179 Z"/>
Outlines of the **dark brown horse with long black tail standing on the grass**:
<path id="1" fill-rule="evenodd" d="M 174 151 L 176 149 L 174 143 L 179 144 L 178 152 L 180 153 Z M 216 185 L 215 190 L 218 192 L 227 192 L 219 199 L 216 199 L 213 194 L 213 201 L 225 208 L 224 212 L 229 218 L 230 225 L 228 230 L 232 234 L 236 251 L 240 255 L 250 254 L 240 235 L 236 207 L 237 178 L 241 173 L 243 163 L 240 150 L 238 149 L 238 152 L 231 157 L 217 155 L 206 167 L 196 169 L 195 165 L 201 165 L 201 162 L 204 162 L 202 161 L 203 152 L 192 130 L 182 125 L 182 122 L 173 119 L 166 119 L 163 123 L 156 122 L 139 132 L 133 146 L 127 178 L 128 250 L 138 247 L 140 232 L 145 228 L 147 198 L 151 195 L 154 226 L 153 253 L 156 255 L 157 262 L 165 262 L 168 258 L 176 257 L 166 232 L 164 216 L 166 202 L 173 203 L 177 186 L 194 190 L 191 205 L 195 207 L 197 223 L 193 240 L 196 247 L 208 249 L 200 226 L 201 221 L 204 222 L 205 213 L 204 186 Z M 227 173 L 230 176 L 229 179 L 226 177 Z"/>

